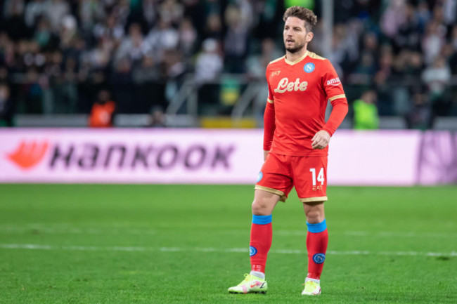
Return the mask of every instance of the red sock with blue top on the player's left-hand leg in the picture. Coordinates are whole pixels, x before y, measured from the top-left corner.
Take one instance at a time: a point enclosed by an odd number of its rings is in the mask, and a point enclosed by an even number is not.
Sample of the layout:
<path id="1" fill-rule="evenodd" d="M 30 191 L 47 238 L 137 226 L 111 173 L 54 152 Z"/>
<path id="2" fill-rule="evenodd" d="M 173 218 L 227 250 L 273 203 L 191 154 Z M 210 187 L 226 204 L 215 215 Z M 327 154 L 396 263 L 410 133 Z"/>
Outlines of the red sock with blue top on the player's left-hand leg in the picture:
<path id="1" fill-rule="evenodd" d="M 271 215 L 252 215 L 251 241 L 249 247 L 252 271 L 265 273 L 266 256 L 270 250 L 271 239 L 273 237 L 271 219 Z"/>

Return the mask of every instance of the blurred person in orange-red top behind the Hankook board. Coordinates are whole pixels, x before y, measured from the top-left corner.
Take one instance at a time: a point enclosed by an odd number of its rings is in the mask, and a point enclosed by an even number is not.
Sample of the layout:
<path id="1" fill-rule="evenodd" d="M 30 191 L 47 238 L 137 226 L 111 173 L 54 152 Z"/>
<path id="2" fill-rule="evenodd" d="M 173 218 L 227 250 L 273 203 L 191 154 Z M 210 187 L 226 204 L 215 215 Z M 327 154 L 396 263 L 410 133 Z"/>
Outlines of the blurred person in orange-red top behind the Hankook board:
<path id="1" fill-rule="evenodd" d="M 103 89 L 98 92 L 97 100 L 92 106 L 89 116 L 89 126 L 91 128 L 112 127 L 114 121 L 116 105 L 111 100 L 110 91 Z"/>

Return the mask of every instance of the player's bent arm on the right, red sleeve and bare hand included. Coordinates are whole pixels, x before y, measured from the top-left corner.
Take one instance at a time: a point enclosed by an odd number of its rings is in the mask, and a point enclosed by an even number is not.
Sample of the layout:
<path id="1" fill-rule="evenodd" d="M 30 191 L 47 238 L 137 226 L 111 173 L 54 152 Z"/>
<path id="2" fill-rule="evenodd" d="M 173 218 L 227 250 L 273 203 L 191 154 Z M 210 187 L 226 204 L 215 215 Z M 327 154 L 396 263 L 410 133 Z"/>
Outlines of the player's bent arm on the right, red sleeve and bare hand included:
<path id="1" fill-rule="evenodd" d="M 323 149 L 330 142 L 330 137 L 333 136 L 336 129 L 340 126 L 347 114 L 347 100 L 345 91 L 342 88 L 340 78 L 336 74 L 335 68 L 330 61 L 323 62 L 323 88 L 333 109 L 330 113 L 328 121 L 323 126 L 321 131 L 311 139 L 311 147 L 313 149 Z"/>

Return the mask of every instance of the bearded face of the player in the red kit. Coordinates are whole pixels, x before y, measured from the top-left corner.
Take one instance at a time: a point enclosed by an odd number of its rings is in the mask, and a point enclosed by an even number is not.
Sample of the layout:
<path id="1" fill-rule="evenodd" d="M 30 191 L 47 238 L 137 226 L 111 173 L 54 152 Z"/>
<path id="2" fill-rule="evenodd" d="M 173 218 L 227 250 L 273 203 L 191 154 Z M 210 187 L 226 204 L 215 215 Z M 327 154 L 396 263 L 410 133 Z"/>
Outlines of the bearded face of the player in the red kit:
<path id="1" fill-rule="evenodd" d="M 313 38 L 313 33 L 307 32 L 304 20 L 297 17 L 289 17 L 285 20 L 283 39 L 285 50 L 296 53 Z"/>

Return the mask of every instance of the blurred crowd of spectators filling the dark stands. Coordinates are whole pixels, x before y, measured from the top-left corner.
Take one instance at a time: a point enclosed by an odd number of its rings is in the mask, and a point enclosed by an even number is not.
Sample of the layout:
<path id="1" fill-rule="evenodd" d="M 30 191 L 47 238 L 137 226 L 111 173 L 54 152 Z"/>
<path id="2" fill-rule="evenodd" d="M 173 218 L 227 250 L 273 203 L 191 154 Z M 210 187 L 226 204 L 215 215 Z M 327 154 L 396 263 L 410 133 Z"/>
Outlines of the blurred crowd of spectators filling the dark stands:
<path id="1" fill-rule="evenodd" d="M 116 113 L 161 112 L 189 73 L 199 99 L 218 103 L 221 74 L 264 81 L 268 62 L 283 55 L 285 8 L 321 18 L 325 2 L 4 0 L 0 121 L 89 113 L 101 91 Z M 411 127 L 457 115 L 457 0 L 334 2 L 331 50 L 322 21 L 309 48 L 328 55 L 349 103 L 370 91 L 376 115 L 404 116 Z"/>

